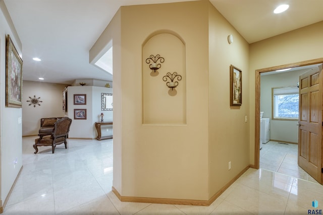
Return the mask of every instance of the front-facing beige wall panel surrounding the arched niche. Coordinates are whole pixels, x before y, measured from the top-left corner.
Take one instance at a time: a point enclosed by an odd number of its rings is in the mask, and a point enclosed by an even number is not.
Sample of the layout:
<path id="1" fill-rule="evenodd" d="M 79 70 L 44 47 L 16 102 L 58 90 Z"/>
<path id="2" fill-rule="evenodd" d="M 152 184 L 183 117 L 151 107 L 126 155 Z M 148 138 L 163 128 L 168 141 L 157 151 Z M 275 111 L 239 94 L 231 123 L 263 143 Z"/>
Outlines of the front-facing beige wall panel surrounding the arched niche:
<path id="1" fill-rule="evenodd" d="M 124 122 L 122 196 L 208 200 L 207 6 L 206 1 L 200 1 L 121 8 L 120 81 L 124 98 L 122 118 L 114 119 Z M 184 125 L 142 124 L 141 74 L 148 57 L 142 55 L 142 45 L 154 32 L 164 31 L 178 34 L 186 47 Z M 165 85 L 165 73 L 161 70 L 154 77 L 161 85 Z M 167 103 L 171 98 L 166 87 L 165 91 L 151 93 Z"/>

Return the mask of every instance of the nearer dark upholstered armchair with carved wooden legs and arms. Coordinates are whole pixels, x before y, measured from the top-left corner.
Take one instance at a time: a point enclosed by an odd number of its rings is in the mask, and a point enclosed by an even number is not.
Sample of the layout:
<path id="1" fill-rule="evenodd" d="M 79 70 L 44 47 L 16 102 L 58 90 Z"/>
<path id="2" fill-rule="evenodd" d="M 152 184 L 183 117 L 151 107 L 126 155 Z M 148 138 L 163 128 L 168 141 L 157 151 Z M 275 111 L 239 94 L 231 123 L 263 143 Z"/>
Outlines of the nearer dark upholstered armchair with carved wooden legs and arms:
<path id="1" fill-rule="evenodd" d="M 43 135 L 38 134 L 39 138 L 35 139 L 35 144 L 33 145 L 36 152 L 38 152 L 37 147 L 42 146 L 51 146 L 52 153 L 54 153 L 56 145 L 65 144 L 65 149 L 67 149 L 67 138 L 68 133 L 70 131 L 70 126 L 72 123 L 72 119 L 69 117 L 64 117 L 58 119 L 54 124 L 54 129 L 51 134 Z"/>

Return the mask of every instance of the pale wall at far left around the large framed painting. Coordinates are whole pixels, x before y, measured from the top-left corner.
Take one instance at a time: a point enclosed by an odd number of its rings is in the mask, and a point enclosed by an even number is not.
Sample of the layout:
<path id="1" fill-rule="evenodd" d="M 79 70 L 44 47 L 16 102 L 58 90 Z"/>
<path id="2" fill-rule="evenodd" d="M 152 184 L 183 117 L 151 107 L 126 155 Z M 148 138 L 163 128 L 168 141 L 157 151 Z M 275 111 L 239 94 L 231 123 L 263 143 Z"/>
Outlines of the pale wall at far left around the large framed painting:
<path id="1" fill-rule="evenodd" d="M 6 36 L 18 53 L 22 45 L 5 3 L 0 0 L 0 211 L 22 167 L 22 110 L 6 107 Z"/>

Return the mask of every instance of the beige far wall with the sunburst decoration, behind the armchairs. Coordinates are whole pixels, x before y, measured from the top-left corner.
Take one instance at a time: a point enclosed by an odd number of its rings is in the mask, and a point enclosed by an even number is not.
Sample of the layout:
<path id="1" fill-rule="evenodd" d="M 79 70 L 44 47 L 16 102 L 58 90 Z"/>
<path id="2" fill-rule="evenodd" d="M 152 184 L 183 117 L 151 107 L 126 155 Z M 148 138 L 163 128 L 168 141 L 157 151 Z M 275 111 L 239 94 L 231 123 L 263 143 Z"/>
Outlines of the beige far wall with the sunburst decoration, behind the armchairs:
<path id="1" fill-rule="evenodd" d="M 40 118 L 63 117 L 63 90 L 66 85 L 23 81 L 22 135 L 37 135 Z M 40 106 L 29 106 L 29 97 L 40 97 Z"/>

